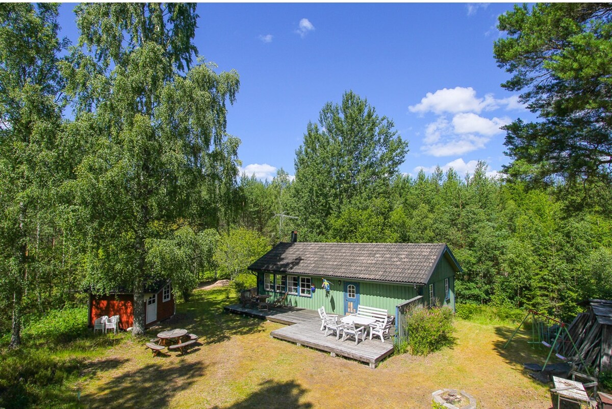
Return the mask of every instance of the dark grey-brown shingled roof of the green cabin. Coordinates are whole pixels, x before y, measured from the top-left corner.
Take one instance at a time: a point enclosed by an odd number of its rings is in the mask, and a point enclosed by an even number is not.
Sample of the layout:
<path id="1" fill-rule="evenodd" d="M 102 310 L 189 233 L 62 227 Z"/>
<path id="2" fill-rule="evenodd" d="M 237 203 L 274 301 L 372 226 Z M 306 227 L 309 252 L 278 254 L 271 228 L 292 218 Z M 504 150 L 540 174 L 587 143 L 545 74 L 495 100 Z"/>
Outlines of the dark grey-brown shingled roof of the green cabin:
<path id="1" fill-rule="evenodd" d="M 278 243 L 248 269 L 427 284 L 442 256 L 461 271 L 444 243 Z"/>

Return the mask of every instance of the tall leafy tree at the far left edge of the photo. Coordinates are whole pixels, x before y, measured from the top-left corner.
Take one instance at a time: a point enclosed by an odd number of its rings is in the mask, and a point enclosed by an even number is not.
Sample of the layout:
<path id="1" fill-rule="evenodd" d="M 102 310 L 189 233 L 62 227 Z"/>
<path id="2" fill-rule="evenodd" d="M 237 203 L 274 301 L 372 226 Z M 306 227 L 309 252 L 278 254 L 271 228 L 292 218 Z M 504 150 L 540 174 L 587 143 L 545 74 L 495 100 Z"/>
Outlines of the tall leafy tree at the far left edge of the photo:
<path id="1" fill-rule="evenodd" d="M 10 347 L 21 343 L 23 297 L 39 272 L 32 237 L 61 180 L 57 18 L 56 4 L 0 4 L 0 292 L 11 304 Z"/>

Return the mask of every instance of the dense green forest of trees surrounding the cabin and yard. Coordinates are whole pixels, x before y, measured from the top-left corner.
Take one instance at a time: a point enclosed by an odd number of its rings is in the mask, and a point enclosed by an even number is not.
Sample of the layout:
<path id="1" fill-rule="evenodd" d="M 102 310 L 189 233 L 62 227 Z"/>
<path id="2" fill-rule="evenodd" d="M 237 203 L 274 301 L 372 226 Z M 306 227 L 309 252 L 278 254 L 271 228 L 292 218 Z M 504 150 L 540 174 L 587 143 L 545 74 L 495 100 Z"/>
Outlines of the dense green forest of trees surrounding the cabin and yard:
<path id="1" fill-rule="evenodd" d="M 239 76 L 196 59 L 195 6 L 75 13 L 69 46 L 58 6 L 0 5 L 0 331 L 12 346 L 27 317 L 82 304 L 84 289 L 142 295 L 171 278 L 188 298 L 204 279 L 246 285 L 245 267 L 291 230 L 447 243 L 460 303 L 571 319 L 612 298 L 610 6 L 499 18 L 494 57 L 513 75 L 502 86 L 539 114 L 507 125 L 503 173 L 401 174 L 408 139 L 347 90 L 304 124 L 294 177 L 272 181 L 239 175 L 225 131 Z"/>

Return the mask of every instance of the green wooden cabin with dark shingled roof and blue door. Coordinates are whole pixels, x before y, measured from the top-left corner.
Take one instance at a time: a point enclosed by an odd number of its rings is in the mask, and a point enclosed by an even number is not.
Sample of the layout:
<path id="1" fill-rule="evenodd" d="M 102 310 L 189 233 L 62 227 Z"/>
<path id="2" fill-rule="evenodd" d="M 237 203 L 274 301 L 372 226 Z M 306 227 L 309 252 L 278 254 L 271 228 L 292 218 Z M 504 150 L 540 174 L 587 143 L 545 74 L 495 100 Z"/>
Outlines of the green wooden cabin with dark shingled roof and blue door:
<path id="1" fill-rule="evenodd" d="M 455 273 L 461 267 L 444 243 L 278 243 L 254 262 L 260 294 L 292 306 L 350 314 L 362 304 L 395 307 L 422 295 L 455 311 Z M 323 281 L 329 283 L 329 291 Z"/>

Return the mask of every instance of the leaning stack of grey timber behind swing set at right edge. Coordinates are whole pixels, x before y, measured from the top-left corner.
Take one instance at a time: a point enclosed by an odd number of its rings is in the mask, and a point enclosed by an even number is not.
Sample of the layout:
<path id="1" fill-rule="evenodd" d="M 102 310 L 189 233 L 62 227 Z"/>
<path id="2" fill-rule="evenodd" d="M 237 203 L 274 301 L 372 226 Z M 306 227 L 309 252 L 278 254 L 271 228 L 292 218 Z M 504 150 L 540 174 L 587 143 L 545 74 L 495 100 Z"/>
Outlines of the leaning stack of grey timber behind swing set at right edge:
<path id="1" fill-rule="evenodd" d="M 568 328 L 578 353 L 565 345 L 567 356 L 579 368 L 584 363 L 597 372 L 612 370 L 612 301 L 589 301 L 588 311 L 578 314 Z"/>

